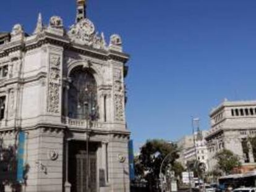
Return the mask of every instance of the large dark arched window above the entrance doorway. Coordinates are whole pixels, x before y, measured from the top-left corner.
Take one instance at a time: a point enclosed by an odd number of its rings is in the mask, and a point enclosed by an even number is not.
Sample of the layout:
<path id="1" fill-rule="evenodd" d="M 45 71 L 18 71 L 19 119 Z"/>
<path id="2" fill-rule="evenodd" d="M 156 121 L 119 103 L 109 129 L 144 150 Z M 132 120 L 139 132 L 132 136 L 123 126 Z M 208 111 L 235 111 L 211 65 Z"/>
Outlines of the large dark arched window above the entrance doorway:
<path id="1" fill-rule="evenodd" d="M 72 70 L 69 78 L 69 117 L 97 119 L 97 85 L 92 73 L 87 69 L 77 67 Z"/>

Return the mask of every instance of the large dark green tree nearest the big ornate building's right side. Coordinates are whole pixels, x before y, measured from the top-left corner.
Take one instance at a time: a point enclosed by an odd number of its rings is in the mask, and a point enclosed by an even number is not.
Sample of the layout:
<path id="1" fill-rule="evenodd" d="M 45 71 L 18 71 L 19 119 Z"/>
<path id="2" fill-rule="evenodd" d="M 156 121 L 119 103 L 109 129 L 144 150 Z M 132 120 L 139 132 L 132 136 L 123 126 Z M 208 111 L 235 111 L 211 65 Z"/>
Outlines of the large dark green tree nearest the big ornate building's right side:
<path id="1" fill-rule="evenodd" d="M 169 164 L 175 169 L 174 162 L 179 158 L 176 150 L 176 144 L 164 140 L 148 140 L 140 149 L 139 158 L 135 160 L 135 173 L 137 178 L 147 180 L 150 191 L 158 188 L 161 162 L 171 152 L 173 155 L 163 164 L 163 172 Z"/>

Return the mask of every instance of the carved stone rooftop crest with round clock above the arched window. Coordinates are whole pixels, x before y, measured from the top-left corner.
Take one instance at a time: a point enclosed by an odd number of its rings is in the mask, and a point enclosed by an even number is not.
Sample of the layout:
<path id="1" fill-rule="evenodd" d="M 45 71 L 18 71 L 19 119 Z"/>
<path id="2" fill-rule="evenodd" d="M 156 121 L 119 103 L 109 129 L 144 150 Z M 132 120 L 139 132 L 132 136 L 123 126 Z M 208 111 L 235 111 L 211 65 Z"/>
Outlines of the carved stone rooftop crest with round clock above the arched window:
<path id="1" fill-rule="evenodd" d="M 106 49 L 104 34 L 101 36 L 95 33 L 95 26 L 89 19 L 82 19 L 80 22 L 72 25 L 67 33 L 70 40 L 74 43 L 92 46 L 95 49 Z"/>

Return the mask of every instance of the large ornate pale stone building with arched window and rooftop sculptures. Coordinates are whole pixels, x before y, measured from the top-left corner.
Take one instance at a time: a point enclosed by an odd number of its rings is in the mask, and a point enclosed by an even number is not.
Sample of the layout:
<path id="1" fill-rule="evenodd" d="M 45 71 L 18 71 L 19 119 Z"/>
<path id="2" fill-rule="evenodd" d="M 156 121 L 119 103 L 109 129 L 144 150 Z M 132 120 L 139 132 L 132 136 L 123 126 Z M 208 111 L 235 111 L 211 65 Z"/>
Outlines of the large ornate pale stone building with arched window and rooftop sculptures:
<path id="1" fill-rule="evenodd" d="M 32 35 L 20 24 L 0 33 L 0 145 L 21 147 L 23 191 L 129 191 L 129 55 L 119 35 L 106 43 L 96 33 L 85 8 L 77 0 L 69 30 L 39 15 Z M 1 167 L 0 181 L 10 172 Z"/>

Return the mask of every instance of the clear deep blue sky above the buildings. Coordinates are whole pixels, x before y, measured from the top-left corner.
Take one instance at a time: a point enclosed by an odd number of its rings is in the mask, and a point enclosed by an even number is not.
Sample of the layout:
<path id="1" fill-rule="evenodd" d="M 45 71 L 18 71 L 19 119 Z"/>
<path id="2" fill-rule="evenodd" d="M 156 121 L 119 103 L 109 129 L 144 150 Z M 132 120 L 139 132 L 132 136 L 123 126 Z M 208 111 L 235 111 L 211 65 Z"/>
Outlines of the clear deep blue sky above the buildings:
<path id="1" fill-rule="evenodd" d="M 208 113 L 224 98 L 256 98 L 255 0 L 88 0 L 88 17 L 106 36 L 121 34 L 131 55 L 127 121 L 135 148 L 148 138 L 176 140 L 190 116 L 209 128 Z M 9 0 L 0 31 L 22 23 L 28 33 L 41 12 L 66 27 L 75 0 Z"/>

